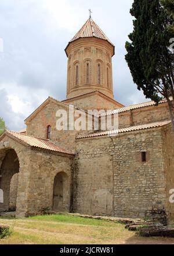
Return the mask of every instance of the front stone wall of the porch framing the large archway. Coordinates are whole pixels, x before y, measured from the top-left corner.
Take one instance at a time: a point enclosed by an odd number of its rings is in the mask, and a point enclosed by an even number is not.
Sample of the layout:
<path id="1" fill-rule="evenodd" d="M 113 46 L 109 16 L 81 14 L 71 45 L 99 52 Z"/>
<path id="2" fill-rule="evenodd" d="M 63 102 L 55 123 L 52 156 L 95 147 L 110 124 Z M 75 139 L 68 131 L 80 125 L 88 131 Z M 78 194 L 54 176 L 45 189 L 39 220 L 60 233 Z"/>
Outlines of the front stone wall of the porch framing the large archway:
<path id="1" fill-rule="evenodd" d="M 9 186 L 4 190 L 3 196 L 4 203 L 0 203 L 1 211 L 9 210 L 9 194 L 10 194 L 10 181 L 15 173 L 14 167 L 17 164 L 17 159 L 19 160 L 19 185 L 17 188 L 17 201 L 16 201 L 16 212 L 18 217 L 24 217 L 26 215 L 26 212 L 28 211 L 28 185 L 30 182 L 30 152 L 31 150 L 28 149 L 28 147 L 20 144 L 19 142 L 16 142 L 16 140 L 13 140 L 9 138 L 8 136 L 5 136 L 3 139 L 1 139 L 0 142 L 0 165 L 1 170 L 3 170 L 3 163 L 5 163 L 5 159 L 8 156 L 8 152 L 13 152 L 15 154 L 15 158 L 10 156 L 7 165 L 9 164 L 11 166 L 9 175 L 6 175 L 8 173 L 8 170 L 4 169 L 4 178 L 8 179 L 8 176 L 10 176 L 9 179 Z M 14 153 L 15 152 L 15 153 Z M 17 157 L 16 157 L 17 155 Z M 17 168 L 15 168 L 17 170 Z"/>

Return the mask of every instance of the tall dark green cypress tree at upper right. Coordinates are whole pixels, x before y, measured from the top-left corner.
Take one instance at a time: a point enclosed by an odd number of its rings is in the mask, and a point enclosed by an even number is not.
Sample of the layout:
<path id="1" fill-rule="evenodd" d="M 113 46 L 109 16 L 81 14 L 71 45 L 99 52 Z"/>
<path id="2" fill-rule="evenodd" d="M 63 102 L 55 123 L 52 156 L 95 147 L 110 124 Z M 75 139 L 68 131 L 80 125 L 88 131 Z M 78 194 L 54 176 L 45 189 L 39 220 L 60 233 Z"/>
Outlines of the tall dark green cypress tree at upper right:
<path id="1" fill-rule="evenodd" d="M 172 0 L 173 1 L 173 0 Z M 131 15 L 133 32 L 126 42 L 126 62 L 137 89 L 157 104 L 165 98 L 174 132 L 174 58 L 171 51 L 173 33 L 168 29 L 173 19 L 160 0 L 135 0 Z"/>

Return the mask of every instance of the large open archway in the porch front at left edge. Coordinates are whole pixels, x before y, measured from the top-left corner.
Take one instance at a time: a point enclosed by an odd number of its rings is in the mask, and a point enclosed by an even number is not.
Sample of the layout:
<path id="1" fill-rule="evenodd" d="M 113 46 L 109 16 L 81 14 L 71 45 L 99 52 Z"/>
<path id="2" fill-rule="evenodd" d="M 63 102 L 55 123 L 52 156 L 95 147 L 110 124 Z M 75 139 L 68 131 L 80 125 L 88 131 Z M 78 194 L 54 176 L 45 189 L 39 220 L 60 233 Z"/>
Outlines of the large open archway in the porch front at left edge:
<path id="1" fill-rule="evenodd" d="M 3 203 L 0 211 L 15 211 L 17 200 L 19 158 L 14 149 L 5 150 L 0 168 L 0 189 L 3 192 Z M 17 175 L 16 175 L 17 174 Z"/>

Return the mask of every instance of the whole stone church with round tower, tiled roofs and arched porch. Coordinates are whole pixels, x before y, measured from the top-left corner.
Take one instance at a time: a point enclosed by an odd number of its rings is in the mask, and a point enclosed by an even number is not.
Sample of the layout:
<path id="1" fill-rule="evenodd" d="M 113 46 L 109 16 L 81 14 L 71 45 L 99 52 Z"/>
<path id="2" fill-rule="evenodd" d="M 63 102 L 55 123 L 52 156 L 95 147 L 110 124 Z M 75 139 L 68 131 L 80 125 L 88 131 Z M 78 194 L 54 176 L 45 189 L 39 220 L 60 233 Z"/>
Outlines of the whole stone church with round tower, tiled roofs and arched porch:
<path id="1" fill-rule="evenodd" d="M 66 99 L 49 97 L 27 117 L 26 131 L 0 137 L 0 212 L 155 214 L 172 222 L 174 142 L 166 100 L 124 106 L 114 99 L 114 45 L 91 17 L 65 52 Z M 89 109 L 110 110 L 111 118 L 117 113 L 118 129 L 58 131 L 57 110 L 70 105 L 86 115 Z"/>

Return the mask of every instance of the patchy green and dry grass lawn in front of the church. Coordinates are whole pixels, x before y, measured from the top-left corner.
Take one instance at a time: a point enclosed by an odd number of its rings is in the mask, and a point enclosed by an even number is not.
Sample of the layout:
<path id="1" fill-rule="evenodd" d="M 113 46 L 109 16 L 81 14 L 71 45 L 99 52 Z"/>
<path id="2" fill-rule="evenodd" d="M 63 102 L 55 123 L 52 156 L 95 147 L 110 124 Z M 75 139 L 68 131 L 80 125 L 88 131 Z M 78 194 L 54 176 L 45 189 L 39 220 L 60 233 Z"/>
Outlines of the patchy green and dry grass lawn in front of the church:
<path id="1" fill-rule="evenodd" d="M 13 219 L 0 217 L 12 233 L 0 244 L 174 244 L 174 239 L 139 237 L 117 222 L 68 214 Z"/>

